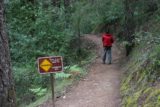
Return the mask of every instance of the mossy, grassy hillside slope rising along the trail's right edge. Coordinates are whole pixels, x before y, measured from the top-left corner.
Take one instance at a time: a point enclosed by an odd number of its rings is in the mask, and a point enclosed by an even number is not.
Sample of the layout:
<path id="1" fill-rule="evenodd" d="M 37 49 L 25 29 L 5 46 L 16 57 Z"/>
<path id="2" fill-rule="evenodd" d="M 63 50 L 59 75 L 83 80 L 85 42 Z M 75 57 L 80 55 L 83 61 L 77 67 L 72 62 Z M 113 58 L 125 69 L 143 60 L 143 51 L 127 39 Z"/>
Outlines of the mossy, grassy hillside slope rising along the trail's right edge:
<path id="1" fill-rule="evenodd" d="M 160 23 L 148 21 L 135 32 L 135 48 L 121 82 L 123 107 L 160 107 Z"/>

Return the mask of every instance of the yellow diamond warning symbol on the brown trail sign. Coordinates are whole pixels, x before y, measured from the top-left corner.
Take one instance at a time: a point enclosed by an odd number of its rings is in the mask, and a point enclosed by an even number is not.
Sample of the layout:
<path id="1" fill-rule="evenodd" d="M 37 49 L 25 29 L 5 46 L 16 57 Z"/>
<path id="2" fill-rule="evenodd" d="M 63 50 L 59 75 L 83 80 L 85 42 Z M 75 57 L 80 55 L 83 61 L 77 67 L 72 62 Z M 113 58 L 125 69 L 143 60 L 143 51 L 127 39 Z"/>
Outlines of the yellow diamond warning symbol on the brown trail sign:
<path id="1" fill-rule="evenodd" d="M 45 71 L 48 72 L 50 68 L 52 67 L 52 63 L 48 61 L 47 59 L 44 59 L 42 63 L 40 64 L 40 67 Z"/>

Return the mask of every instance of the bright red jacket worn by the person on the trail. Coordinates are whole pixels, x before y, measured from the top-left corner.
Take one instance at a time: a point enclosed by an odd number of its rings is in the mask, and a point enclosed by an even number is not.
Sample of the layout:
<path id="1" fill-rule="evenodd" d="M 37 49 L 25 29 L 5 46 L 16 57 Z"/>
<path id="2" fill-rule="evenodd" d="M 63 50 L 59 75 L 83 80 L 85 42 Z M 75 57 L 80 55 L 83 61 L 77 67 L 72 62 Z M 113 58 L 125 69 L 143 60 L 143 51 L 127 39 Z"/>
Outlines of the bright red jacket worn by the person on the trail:
<path id="1" fill-rule="evenodd" d="M 103 34 L 102 36 L 103 46 L 112 46 L 114 39 L 111 34 Z"/>

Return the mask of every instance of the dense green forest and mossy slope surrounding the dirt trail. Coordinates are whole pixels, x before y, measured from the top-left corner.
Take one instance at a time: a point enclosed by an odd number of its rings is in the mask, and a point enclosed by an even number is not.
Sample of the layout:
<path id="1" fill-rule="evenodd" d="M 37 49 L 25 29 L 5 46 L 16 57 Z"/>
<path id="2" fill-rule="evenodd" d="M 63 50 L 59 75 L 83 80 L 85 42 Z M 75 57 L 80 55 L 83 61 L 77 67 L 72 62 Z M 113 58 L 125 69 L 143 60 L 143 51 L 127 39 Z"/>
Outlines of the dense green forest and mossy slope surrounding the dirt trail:
<path id="1" fill-rule="evenodd" d="M 159 0 L 1 0 L 0 83 L 7 85 L 1 91 L 0 84 L 0 106 L 33 107 L 51 98 L 49 75 L 37 71 L 43 56 L 63 56 L 64 72 L 55 74 L 61 96 L 95 59 L 94 43 L 82 38 L 109 31 L 126 53 L 121 106 L 159 107 L 159 28 Z M 4 104 L 7 96 L 14 104 Z"/>

